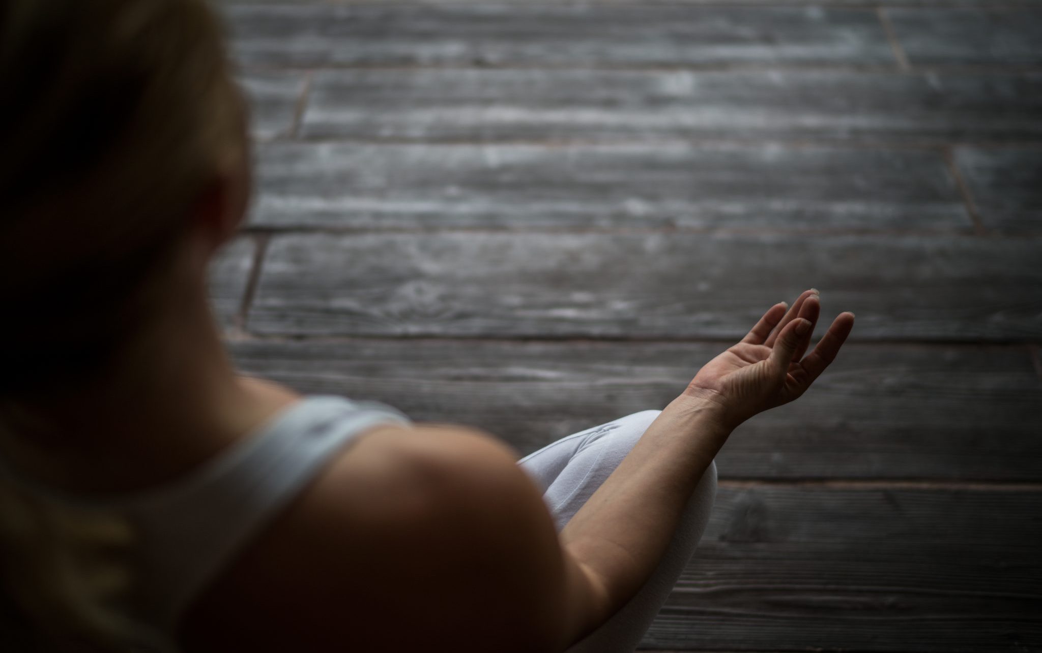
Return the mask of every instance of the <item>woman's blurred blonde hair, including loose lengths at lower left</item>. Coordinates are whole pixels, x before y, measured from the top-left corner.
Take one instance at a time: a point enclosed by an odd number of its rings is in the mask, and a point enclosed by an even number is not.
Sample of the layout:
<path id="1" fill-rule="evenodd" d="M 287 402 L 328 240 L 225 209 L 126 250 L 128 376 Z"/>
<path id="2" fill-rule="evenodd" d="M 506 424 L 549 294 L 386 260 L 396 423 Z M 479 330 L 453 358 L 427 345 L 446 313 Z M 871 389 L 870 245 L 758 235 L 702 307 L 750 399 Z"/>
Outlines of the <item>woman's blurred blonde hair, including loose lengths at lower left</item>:
<path id="1" fill-rule="evenodd" d="M 188 212 L 241 165 L 245 123 L 204 0 L 4 0 L 0 87 L 0 405 L 10 415 L 89 383 L 156 315 Z M 0 431 L 18 434 L 8 415 Z M 132 541 L 119 520 L 71 513 L 0 478 L 4 594 L 49 633 L 69 625 L 48 650 L 127 649 L 114 606 L 132 578 L 110 559 Z"/>

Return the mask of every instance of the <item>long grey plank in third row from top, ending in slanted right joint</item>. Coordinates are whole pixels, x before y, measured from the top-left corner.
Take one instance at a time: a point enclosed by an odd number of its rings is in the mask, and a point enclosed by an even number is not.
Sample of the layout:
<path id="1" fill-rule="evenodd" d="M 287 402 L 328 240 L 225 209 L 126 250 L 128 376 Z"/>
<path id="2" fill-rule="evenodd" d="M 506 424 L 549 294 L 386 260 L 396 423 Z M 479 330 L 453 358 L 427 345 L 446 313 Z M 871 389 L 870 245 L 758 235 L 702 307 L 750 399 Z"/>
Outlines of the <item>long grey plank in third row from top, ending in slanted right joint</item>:
<path id="1" fill-rule="evenodd" d="M 264 227 L 971 228 L 932 151 L 272 143 L 258 159 Z"/>

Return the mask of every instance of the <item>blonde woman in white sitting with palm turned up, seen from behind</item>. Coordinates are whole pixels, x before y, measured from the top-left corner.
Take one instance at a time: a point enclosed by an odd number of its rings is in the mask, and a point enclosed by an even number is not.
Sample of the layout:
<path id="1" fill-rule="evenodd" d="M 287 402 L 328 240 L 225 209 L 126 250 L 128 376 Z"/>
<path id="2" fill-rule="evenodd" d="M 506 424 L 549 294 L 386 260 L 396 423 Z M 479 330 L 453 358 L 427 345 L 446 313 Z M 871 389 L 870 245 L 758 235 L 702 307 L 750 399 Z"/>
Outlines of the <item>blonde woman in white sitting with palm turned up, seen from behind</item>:
<path id="1" fill-rule="evenodd" d="M 250 195 L 247 118 L 202 0 L 8 0 L 0 85 L 16 650 L 632 650 L 730 431 L 799 397 L 853 324 L 803 357 L 808 291 L 665 409 L 518 461 L 472 428 L 237 374 L 206 280 Z"/>

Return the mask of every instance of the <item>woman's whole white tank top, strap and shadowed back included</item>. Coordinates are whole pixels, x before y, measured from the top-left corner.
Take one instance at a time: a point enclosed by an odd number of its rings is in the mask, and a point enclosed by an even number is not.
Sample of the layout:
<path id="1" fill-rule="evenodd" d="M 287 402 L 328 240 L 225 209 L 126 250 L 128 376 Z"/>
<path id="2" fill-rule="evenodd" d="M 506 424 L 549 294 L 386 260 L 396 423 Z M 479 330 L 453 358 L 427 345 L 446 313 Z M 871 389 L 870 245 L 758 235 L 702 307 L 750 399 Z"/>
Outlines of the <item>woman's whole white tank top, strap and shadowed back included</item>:
<path id="1" fill-rule="evenodd" d="M 17 477 L 2 460 L 0 476 L 57 510 L 127 526 L 133 546 L 119 562 L 134 582 L 125 605 L 141 631 L 132 646 L 177 651 L 178 621 L 207 581 L 332 454 L 388 422 L 412 424 L 380 402 L 306 395 L 180 479 L 147 492 L 85 499 Z"/>

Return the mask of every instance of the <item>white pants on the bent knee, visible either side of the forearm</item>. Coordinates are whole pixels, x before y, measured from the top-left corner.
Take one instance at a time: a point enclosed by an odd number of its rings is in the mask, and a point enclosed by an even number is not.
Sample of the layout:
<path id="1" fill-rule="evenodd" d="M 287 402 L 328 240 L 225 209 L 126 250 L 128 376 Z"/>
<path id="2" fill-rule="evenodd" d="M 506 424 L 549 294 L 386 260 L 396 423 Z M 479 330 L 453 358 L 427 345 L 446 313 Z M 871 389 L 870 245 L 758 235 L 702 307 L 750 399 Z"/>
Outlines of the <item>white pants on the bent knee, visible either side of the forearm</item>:
<path id="1" fill-rule="evenodd" d="M 662 410 L 642 410 L 573 433 L 518 460 L 543 489 L 557 532 L 600 487 Z M 567 653 L 632 653 L 695 552 L 716 499 L 714 460 L 688 501 L 651 577 L 626 605 Z"/>

